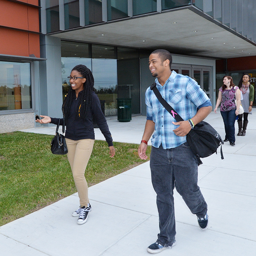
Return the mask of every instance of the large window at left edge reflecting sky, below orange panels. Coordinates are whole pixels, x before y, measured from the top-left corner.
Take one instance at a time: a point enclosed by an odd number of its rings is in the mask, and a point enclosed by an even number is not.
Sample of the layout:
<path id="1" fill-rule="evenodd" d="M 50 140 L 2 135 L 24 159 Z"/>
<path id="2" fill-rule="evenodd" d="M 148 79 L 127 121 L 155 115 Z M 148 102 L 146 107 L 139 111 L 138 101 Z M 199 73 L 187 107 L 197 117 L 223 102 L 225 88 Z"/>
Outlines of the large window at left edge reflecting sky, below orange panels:
<path id="1" fill-rule="evenodd" d="M 30 63 L 0 61 L 0 110 L 31 109 Z"/>

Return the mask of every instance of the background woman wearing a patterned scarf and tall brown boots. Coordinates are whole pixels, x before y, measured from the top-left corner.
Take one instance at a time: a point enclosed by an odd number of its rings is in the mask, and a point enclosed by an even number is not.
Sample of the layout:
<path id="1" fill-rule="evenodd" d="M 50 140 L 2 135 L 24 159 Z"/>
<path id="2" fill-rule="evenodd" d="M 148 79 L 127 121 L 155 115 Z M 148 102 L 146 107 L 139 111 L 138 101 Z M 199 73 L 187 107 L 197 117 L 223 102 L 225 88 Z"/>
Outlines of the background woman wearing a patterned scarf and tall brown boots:
<path id="1" fill-rule="evenodd" d="M 238 133 L 237 136 L 245 136 L 246 128 L 248 124 L 248 114 L 252 111 L 252 103 L 254 98 L 254 88 L 250 82 L 251 76 L 244 73 L 238 83 L 238 87 L 242 92 L 243 99 L 241 100 L 242 107 L 244 108 L 244 113 L 238 115 Z M 242 117 L 244 115 L 244 123 Z"/>

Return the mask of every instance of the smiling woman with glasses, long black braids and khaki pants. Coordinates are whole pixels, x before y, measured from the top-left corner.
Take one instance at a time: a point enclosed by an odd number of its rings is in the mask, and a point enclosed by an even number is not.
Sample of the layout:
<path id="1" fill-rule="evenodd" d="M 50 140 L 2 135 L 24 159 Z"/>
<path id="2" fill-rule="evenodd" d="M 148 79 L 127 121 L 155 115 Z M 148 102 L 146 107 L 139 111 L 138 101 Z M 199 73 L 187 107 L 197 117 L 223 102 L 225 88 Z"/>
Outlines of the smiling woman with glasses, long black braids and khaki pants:
<path id="1" fill-rule="evenodd" d="M 87 221 L 88 214 L 91 211 L 84 172 L 91 156 L 95 139 L 93 116 L 95 116 L 99 129 L 108 143 L 110 157 L 114 157 L 115 149 L 106 118 L 101 111 L 99 98 L 93 90 L 94 78 L 90 69 L 84 65 L 77 65 L 72 69 L 68 79 L 71 88 L 66 95 L 62 111 L 66 125 L 67 157 L 80 199 L 80 207 L 72 213 L 72 216 L 79 217 L 78 224 L 83 224 Z M 59 118 L 40 117 L 42 119 L 37 121 L 41 124 L 59 123 Z M 63 119 L 61 119 L 60 124 L 63 124 Z"/>

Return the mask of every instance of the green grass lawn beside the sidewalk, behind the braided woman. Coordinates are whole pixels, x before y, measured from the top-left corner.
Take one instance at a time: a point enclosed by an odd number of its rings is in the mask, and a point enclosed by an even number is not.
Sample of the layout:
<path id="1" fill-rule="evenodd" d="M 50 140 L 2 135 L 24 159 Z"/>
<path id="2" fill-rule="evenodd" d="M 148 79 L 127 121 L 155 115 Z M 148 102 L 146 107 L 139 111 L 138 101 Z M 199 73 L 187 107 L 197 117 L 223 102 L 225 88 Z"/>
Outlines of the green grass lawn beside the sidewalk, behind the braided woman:
<path id="1" fill-rule="evenodd" d="M 50 151 L 52 135 L 12 132 L 0 134 L 0 226 L 76 192 L 66 155 Z M 96 140 L 86 168 L 89 186 L 139 165 L 138 144 L 108 144 Z M 151 147 L 147 154 L 150 155 Z"/>

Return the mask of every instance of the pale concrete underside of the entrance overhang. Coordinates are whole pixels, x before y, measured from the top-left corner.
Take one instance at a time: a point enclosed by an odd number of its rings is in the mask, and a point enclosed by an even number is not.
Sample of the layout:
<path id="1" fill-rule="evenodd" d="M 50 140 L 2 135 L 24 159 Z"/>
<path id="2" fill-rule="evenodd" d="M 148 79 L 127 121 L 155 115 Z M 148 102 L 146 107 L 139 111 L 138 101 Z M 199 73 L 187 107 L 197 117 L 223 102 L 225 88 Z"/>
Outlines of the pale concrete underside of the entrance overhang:
<path id="1" fill-rule="evenodd" d="M 256 55 L 256 44 L 196 8 L 144 15 L 59 33 L 55 37 L 171 53 L 234 58 Z"/>

